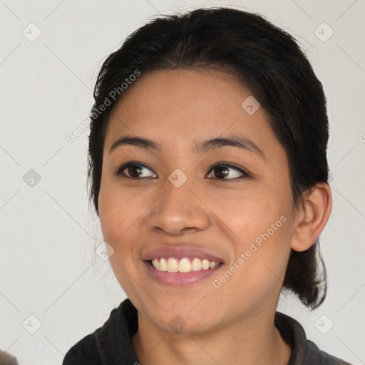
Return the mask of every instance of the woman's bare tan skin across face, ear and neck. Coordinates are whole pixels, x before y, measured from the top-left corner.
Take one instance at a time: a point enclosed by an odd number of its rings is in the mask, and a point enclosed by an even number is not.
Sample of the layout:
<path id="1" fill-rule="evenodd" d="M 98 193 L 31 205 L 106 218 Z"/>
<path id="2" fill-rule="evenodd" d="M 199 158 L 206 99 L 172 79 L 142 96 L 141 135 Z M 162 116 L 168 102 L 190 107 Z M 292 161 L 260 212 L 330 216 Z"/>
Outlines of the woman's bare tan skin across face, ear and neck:
<path id="1" fill-rule="evenodd" d="M 250 95 L 217 71 L 153 71 L 141 75 L 112 110 L 99 215 L 103 238 L 114 250 L 115 277 L 138 309 L 133 346 L 142 365 L 289 361 L 291 349 L 274 327 L 285 269 L 290 250 L 307 250 L 324 229 L 331 192 L 319 183 L 303 206 L 294 207 L 287 155 L 265 111 L 249 115 L 241 107 Z M 155 140 L 161 149 L 123 145 L 110 153 L 124 135 Z M 203 140 L 235 136 L 255 143 L 263 156 L 231 146 L 194 151 Z M 130 160 L 148 165 L 143 178 L 115 175 Z M 222 180 L 219 168 L 210 170 L 220 161 L 246 170 L 250 178 L 237 178 L 242 173 L 230 168 L 232 180 Z M 168 180 L 177 168 L 187 176 L 181 187 Z M 282 216 L 281 227 L 227 281 L 213 287 L 212 281 Z M 143 253 L 183 244 L 208 250 L 224 265 L 188 287 L 153 279 Z M 182 331 L 170 326 L 174 318 Z"/>

